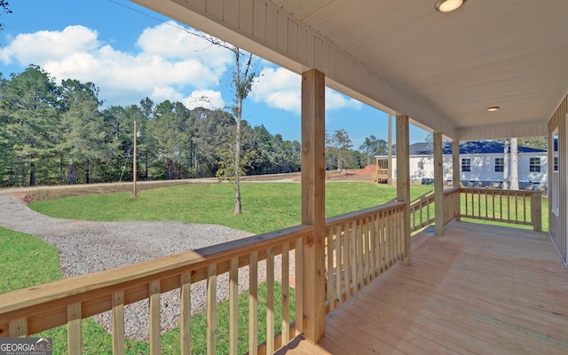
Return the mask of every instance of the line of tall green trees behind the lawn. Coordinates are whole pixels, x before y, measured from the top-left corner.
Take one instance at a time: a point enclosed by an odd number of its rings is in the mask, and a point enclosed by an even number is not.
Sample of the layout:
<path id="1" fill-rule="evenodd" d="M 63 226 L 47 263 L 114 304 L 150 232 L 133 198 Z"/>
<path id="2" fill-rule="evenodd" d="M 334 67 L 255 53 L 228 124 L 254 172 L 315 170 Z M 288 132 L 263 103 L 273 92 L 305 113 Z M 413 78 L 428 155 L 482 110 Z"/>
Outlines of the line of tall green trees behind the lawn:
<path id="1" fill-rule="evenodd" d="M 236 120 L 223 109 L 180 102 L 102 108 L 94 83 L 60 84 L 41 67 L 0 74 L 0 185 L 73 185 L 132 179 L 133 122 L 138 179 L 234 176 Z M 358 150 L 344 130 L 327 136 L 327 169 L 358 169 L 383 153 L 373 136 Z M 383 145 L 386 147 L 386 143 Z M 385 148 L 386 149 L 386 148 Z M 241 166 L 248 175 L 297 172 L 301 144 L 241 123 Z"/>

